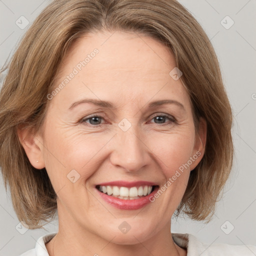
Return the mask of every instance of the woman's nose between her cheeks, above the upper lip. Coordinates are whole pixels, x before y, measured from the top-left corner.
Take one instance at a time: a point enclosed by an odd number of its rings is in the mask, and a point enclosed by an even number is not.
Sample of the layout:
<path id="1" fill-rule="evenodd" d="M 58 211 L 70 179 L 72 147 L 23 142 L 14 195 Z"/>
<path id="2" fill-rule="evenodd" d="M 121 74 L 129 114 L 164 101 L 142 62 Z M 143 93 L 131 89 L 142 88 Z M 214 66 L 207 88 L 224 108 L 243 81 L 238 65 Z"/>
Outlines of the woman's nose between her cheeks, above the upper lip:
<path id="1" fill-rule="evenodd" d="M 133 125 L 126 131 L 118 129 L 112 141 L 111 163 L 129 172 L 140 170 L 150 161 L 150 150 L 144 140 L 145 136 Z"/>

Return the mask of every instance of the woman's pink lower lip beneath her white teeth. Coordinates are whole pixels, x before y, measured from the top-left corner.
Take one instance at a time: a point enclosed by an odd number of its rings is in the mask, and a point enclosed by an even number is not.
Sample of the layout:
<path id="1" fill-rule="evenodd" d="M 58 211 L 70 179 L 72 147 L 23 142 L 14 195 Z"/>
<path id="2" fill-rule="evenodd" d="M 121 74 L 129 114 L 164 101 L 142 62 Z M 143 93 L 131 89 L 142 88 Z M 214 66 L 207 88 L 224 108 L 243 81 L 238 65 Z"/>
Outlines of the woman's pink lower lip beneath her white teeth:
<path id="1" fill-rule="evenodd" d="M 154 194 L 158 190 L 156 187 L 150 194 L 143 196 L 139 199 L 125 200 L 125 199 L 120 199 L 120 198 L 102 193 L 97 188 L 95 188 L 95 189 L 97 190 L 97 192 L 103 198 L 104 201 L 108 202 L 109 204 L 111 204 L 112 206 L 114 206 L 118 209 L 123 209 L 123 210 L 136 210 L 136 209 L 144 207 L 145 205 L 147 205 L 151 202 L 149 200 L 149 198 L 153 197 Z"/>

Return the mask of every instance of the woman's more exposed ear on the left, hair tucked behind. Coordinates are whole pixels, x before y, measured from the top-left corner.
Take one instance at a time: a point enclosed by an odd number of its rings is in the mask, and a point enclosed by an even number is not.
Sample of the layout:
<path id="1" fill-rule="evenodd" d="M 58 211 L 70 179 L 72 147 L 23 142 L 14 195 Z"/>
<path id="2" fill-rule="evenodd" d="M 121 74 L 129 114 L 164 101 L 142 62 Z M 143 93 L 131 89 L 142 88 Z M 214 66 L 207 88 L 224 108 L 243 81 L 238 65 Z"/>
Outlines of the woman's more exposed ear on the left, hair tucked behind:
<path id="1" fill-rule="evenodd" d="M 22 127 L 17 129 L 17 135 L 31 165 L 37 169 L 44 168 L 41 137 L 33 135 L 30 129 Z"/>

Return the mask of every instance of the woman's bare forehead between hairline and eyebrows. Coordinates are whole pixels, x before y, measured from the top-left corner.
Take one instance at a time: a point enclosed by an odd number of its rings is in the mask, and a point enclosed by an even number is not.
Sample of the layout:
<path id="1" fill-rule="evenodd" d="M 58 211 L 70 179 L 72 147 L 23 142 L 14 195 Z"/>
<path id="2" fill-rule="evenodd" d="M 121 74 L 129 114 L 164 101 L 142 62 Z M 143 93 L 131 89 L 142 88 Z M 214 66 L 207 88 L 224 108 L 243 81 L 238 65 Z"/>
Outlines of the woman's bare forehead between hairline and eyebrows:
<path id="1" fill-rule="evenodd" d="M 150 36 L 121 31 L 90 32 L 72 43 L 54 86 L 75 70 L 61 91 L 67 101 L 88 94 L 102 100 L 118 96 L 123 102 L 148 101 L 152 96 L 157 99 L 166 95 L 186 101 L 180 79 L 169 75 L 174 67 L 170 49 Z"/>

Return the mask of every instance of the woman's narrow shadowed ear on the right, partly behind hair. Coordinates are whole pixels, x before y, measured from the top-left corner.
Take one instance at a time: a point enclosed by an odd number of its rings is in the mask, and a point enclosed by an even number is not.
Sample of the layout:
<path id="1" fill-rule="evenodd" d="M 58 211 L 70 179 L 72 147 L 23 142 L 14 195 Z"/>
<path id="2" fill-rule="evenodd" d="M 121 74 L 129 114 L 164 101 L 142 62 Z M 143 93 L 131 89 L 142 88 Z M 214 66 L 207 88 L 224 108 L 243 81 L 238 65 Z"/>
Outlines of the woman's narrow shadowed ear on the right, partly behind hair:
<path id="1" fill-rule="evenodd" d="M 190 165 L 190 170 L 193 170 L 196 165 L 202 159 L 205 152 L 205 144 L 206 144 L 206 132 L 207 132 L 207 124 L 204 118 L 200 117 L 198 130 L 195 131 L 194 138 L 194 146 L 192 150 L 192 154 L 190 159 L 192 160 L 192 164 Z"/>

